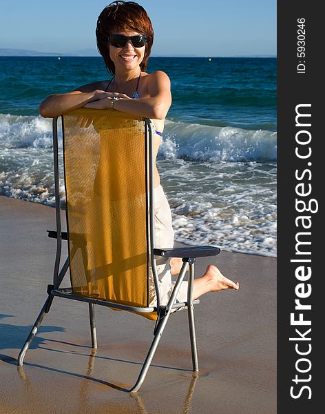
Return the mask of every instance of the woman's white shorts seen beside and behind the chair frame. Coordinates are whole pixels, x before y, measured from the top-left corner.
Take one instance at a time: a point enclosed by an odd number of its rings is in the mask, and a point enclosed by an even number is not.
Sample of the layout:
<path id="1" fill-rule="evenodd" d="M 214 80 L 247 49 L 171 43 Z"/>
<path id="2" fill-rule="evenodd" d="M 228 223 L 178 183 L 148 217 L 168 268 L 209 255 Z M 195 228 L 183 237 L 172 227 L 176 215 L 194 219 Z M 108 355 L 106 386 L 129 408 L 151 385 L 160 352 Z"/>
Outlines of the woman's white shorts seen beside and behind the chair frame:
<path id="1" fill-rule="evenodd" d="M 171 225 L 171 210 L 162 186 L 154 189 L 155 199 L 155 248 L 174 247 L 174 230 Z M 175 282 L 171 281 L 171 266 L 169 259 L 156 256 L 157 272 L 160 288 L 160 304 L 167 305 L 174 289 Z M 156 289 L 151 266 L 149 268 L 149 306 L 156 306 Z M 187 282 L 182 282 L 176 296 L 176 302 L 187 302 Z"/>

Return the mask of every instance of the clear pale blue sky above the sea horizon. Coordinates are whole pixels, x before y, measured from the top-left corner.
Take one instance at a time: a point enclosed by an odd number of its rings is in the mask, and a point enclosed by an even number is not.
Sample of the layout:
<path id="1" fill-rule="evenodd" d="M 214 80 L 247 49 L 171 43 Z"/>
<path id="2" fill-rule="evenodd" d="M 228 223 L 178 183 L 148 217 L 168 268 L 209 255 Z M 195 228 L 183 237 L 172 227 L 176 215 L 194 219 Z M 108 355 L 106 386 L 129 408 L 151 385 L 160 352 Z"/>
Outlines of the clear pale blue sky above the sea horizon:
<path id="1" fill-rule="evenodd" d="M 96 50 L 100 0 L 1 0 L 0 48 Z M 276 0 L 138 0 L 153 23 L 152 55 L 276 54 Z"/>

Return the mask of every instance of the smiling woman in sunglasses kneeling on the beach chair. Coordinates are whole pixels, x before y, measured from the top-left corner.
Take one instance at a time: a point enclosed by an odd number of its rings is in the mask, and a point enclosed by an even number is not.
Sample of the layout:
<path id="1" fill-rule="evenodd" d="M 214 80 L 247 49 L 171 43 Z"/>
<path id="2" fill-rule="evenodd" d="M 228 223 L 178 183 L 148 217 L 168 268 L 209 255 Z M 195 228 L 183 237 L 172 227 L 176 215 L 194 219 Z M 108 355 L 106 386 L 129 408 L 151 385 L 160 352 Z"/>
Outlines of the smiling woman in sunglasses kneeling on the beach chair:
<path id="1" fill-rule="evenodd" d="M 96 39 L 107 70 L 114 75 L 112 79 L 89 83 L 65 94 L 50 95 L 41 103 L 40 114 L 43 117 L 56 117 L 77 108 L 114 108 L 151 118 L 155 129 L 156 157 L 165 117 L 171 106 L 171 89 L 165 72 L 145 72 L 154 41 L 154 30 L 147 12 L 133 1 L 110 3 L 98 17 Z M 172 247 L 174 232 L 171 212 L 156 167 L 154 186 L 155 246 Z M 181 259 L 176 258 L 158 264 L 162 304 L 167 302 L 173 288 L 171 274 L 178 273 L 181 264 Z M 193 298 L 227 288 L 237 290 L 239 285 L 224 277 L 216 266 L 209 265 L 205 274 L 194 281 Z M 177 299 L 178 302 L 186 302 L 187 282 L 182 283 Z"/>

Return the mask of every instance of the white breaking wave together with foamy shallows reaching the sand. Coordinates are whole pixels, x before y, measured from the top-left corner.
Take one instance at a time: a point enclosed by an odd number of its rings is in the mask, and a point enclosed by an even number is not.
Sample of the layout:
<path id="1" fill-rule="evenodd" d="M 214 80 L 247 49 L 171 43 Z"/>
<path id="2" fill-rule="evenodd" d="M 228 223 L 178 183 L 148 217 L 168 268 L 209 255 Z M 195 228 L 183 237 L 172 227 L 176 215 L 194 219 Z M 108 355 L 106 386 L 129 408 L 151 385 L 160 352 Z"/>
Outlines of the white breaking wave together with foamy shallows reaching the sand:
<path id="1" fill-rule="evenodd" d="M 157 165 L 176 240 L 275 256 L 275 161 L 276 132 L 167 120 Z M 54 206 L 51 119 L 0 115 L 0 194 Z"/>

